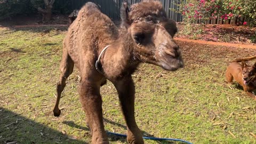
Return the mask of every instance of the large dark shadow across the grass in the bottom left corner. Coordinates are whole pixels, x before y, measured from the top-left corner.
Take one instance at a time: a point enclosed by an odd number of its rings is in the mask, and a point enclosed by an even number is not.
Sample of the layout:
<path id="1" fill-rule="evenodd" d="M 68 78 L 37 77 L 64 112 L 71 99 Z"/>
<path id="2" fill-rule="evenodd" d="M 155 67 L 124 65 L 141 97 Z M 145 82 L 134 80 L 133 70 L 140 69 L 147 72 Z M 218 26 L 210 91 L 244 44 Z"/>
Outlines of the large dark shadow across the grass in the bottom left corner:
<path id="1" fill-rule="evenodd" d="M 0 143 L 85 143 L 0 107 Z"/>

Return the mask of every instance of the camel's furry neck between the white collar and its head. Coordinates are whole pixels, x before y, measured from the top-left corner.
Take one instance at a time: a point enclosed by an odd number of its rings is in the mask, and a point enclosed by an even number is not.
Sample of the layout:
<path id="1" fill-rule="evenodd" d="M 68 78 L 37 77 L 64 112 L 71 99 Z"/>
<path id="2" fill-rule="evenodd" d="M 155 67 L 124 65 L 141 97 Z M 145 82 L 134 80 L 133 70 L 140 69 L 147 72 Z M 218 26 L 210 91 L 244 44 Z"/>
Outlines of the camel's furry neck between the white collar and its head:
<path id="1" fill-rule="evenodd" d="M 119 39 L 110 44 L 101 58 L 102 69 L 107 78 L 131 75 L 140 61 L 135 59 L 132 37 L 121 31 Z"/>

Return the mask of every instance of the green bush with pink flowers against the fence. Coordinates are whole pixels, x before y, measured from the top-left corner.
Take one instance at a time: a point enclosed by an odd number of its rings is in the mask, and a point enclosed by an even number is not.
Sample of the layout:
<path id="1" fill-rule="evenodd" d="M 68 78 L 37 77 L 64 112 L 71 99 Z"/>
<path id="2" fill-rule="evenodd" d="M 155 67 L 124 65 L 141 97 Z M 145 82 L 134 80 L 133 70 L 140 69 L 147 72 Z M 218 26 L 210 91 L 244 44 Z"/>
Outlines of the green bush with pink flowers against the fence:
<path id="1" fill-rule="evenodd" d="M 179 4 L 177 4 L 177 2 Z M 179 6 L 179 12 L 183 15 L 186 22 L 201 20 L 204 22 L 209 19 L 223 20 L 243 17 L 241 24 L 255 24 L 256 18 L 256 1 L 255 0 L 176 0 Z M 175 11 L 175 10 L 174 10 Z"/>

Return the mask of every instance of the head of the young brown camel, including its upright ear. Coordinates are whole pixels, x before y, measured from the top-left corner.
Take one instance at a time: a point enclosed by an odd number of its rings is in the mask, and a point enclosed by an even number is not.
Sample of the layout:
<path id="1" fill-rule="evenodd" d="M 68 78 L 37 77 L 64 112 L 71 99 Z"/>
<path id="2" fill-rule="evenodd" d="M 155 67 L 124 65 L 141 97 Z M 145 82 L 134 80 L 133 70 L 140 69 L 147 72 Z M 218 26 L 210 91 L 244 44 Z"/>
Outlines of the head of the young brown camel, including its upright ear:
<path id="1" fill-rule="evenodd" d="M 161 66 L 166 70 L 183 67 L 181 52 L 173 36 L 176 23 L 167 18 L 161 2 L 143 1 L 121 9 L 121 27 L 132 37 L 137 59 Z"/>

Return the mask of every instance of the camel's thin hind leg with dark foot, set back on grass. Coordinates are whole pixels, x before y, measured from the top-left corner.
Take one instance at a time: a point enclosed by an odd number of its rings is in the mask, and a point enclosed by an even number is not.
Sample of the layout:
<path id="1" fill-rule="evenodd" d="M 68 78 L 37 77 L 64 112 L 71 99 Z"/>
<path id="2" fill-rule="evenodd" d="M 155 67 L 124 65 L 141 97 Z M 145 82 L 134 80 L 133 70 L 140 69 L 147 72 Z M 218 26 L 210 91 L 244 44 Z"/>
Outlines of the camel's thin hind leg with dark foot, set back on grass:
<path id="1" fill-rule="evenodd" d="M 62 59 L 60 63 L 61 74 L 60 74 L 59 82 L 57 83 L 57 99 L 53 109 L 54 116 L 60 115 L 59 102 L 60 102 L 61 92 L 64 90 L 64 87 L 66 86 L 66 79 L 73 72 L 73 69 L 74 69 L 74 61 L 70 58 L 70 55 L 68 54 L 68 52 L 65 49 L 63 49 Z"/>

